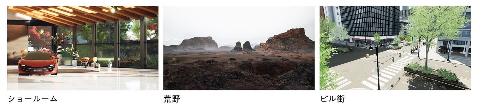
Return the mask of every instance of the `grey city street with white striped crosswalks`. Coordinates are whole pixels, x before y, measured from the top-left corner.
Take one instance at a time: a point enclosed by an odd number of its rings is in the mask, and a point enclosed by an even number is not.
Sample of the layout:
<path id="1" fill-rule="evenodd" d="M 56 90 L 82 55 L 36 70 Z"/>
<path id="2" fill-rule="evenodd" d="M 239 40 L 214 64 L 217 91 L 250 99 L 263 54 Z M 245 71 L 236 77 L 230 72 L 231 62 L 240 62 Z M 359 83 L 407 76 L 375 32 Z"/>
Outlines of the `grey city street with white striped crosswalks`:
<path id="1" fill-rule="evenodd" d="M 336 80 L 339 84 L 337 90 L 377 90 L 377 71 L 373 71 L 377 67 L 376 50 L 347 45 L 342 47 L 353 51 L 331 54 L 333 57 L 328 59 L 330 62 L 328 66 L 331 68 L 329 72 L 341 75 Z M 404 46 L 398 50 L 379 48 L 380 90 L 464 90 L 458 86 L 403 71 L 403 67 L 408 63 L 419 62 L 424 65 L 425 62 L 424 58 L 417 57 L 418 50 L 410 53 L 410 49 L 411 46 Z M 399 57 L 399 53 L 402 57 Z M 366 54 L 369 54 L 369 58 L 365 58 Z M 395 62 L 392 61 L 392 57 Z M 471 67 L 437 60 L 428 60 L 428 66 L 452 70 L 463 86 L 471 88 Z"/>

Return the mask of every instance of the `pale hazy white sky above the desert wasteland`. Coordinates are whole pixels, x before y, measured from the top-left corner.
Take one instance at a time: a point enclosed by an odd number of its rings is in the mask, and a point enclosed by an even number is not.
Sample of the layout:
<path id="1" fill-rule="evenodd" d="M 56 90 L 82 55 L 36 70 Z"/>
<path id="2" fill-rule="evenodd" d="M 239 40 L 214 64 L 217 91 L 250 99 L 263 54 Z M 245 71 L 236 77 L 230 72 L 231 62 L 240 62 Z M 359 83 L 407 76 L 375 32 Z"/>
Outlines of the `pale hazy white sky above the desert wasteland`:
<path id="1" fill-rule="evenodd" d="M 164 7 L 163 40 L 168 46 L 211 36 L 219 47 L 247 40 L 259 44 L 296 28 L 315 40 L 314 13 L 314 7 Z"/>

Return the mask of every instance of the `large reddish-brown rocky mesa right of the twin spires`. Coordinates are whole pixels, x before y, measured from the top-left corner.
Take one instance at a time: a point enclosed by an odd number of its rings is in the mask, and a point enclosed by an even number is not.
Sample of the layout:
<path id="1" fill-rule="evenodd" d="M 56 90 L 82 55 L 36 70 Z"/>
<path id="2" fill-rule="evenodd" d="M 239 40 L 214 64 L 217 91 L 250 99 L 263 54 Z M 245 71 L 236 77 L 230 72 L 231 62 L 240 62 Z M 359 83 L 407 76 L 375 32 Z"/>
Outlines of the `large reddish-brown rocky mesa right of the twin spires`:
<path id="1" fill-rule="evenodd" d="M 289 29 L 261 43 L 256 51 L 274 53 L 314 53 L 314 41 L 305 36 L 304 28 Z"/>

